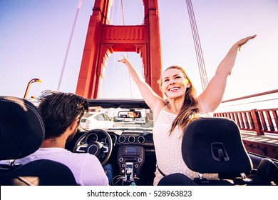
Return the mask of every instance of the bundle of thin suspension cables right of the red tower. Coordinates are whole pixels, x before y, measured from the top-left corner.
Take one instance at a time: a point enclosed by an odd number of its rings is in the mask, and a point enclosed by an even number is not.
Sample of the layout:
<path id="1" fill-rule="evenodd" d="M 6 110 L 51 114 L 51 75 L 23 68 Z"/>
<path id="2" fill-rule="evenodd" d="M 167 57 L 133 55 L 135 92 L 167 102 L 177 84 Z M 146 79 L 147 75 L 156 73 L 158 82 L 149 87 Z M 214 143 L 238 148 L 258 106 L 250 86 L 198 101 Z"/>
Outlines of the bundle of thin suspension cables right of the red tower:
<path id="1" fill-rule="evenodd" d="M 192 6 L 191 0 L 186 0 L 186 4 L 187 4 L 187 11 L 189 14 L 189 19 L 190 19 L 192 36 L 193 36 L 194 45 L 195 45 L 200 79 L 202 82 L 202 90 L 204 91 L 208 84 L 207 71 L 205 69 L 205 61 L 204 61 L 204 57 L 202 56 L 202 47 L 201 47 L 200 37 L 199 37 L 198 29 L 197 29 L 195 14 L 193 11 L 193 6 Z"/>

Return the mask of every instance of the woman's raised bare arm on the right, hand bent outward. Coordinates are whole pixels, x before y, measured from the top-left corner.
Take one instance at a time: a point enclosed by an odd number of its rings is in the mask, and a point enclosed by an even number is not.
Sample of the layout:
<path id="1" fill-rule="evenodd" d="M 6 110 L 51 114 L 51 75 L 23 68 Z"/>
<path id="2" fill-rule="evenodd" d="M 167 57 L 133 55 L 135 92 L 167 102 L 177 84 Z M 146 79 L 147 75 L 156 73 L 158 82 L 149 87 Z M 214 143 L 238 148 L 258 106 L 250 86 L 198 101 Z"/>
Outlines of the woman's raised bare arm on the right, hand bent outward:
<path id="1" fill-rule="evenodd" d="M 226 88 L 227 77 L 231 74 L 232 68 L 235 66 L 238 51 L 240 51 L 242 45 L 246 44 L 250 39 L 254 39 L 255 36 L 248 36 L 241 39 L 231 47 L 217 67 L 215 76 L 212 77 L 205 91 L 197 97 L 199 108 L 204 113 L 215 111 L 221 103 Z"/>

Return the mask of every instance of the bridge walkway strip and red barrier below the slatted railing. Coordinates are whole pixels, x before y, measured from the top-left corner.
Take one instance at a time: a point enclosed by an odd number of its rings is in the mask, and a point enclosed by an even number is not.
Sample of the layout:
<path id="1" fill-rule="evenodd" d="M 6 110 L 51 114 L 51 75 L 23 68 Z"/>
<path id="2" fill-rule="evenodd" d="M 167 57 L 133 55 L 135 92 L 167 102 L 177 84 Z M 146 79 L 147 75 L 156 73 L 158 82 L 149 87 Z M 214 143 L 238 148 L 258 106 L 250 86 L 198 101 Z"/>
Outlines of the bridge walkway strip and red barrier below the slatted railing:
<path id="1" fill-rule="evenodd" d="M 258 136 L 254 131 L 241 130 L 240 132 L 247 151 L 278 160 L 277 134 L 264 134 Z"/>

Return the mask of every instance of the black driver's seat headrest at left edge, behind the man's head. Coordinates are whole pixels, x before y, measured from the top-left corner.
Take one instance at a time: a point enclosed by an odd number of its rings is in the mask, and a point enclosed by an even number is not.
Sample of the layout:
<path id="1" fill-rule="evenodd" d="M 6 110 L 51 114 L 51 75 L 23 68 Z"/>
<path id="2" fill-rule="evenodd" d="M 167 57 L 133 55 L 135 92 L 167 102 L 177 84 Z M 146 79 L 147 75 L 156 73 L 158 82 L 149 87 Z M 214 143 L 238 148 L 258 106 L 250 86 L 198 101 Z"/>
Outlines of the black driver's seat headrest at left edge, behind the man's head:
<path id="1" fill-rule="evenodd" d="M 34 153 L 45 134 L 43 119 L 26 99 L 0 96 L 0 160 L 20 159 Z"/>

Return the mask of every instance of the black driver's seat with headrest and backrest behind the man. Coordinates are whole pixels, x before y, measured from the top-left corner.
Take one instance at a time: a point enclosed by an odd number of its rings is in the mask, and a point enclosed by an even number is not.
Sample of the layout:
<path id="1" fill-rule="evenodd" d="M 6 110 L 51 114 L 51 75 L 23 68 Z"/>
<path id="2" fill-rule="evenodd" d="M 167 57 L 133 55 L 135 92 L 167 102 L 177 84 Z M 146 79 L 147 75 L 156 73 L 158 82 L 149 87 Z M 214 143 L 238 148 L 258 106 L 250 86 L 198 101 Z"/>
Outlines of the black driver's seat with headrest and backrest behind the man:
<path id="1" fill-rule="evenodd" d="M 34 104 L 26 99 L 0 96 L 0 185 L 77 185 L 73 173 L 64 164 L 41 159 L 14 165 L 14 159 L 34 153 L 42 144 L 43 119 Z"/>

